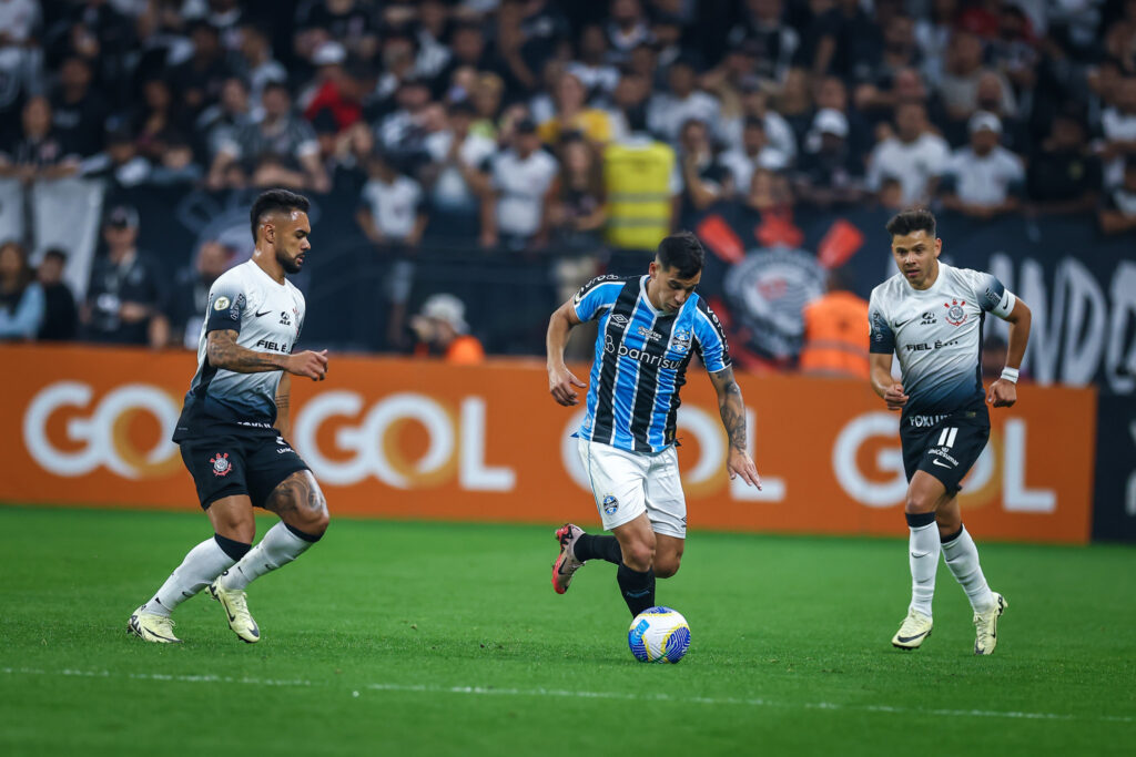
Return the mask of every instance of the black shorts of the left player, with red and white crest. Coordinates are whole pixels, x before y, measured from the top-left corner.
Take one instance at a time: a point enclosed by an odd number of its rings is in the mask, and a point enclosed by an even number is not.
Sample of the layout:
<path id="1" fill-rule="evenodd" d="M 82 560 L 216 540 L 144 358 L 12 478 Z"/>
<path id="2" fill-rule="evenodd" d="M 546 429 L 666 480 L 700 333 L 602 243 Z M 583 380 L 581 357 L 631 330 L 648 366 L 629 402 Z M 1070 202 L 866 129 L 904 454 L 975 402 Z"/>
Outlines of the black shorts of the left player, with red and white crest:
<path id="1" fill-rule="evenodd" d="M 179 446 L 202 510 L 239 494 L 248 495 L 254 506 L 264 507 L 281 481 L 308 470 L 292 445 L 275 434 L 203 436 Z"/>

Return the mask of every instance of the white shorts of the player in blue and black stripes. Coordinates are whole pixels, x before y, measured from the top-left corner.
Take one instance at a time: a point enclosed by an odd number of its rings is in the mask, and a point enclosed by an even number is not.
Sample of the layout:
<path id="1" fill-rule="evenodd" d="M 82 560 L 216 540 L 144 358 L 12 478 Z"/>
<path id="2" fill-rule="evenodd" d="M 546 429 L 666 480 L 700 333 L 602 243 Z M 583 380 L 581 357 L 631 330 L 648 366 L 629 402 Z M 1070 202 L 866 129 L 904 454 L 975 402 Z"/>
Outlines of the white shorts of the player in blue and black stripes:
<path id="1" fill-rule="evenodd" d="M 604 530 L 646 513 L 655 533 L 686 538 L 686 497 L 675 447 L 644 455 L 584 438 L 578 441 Z"/>

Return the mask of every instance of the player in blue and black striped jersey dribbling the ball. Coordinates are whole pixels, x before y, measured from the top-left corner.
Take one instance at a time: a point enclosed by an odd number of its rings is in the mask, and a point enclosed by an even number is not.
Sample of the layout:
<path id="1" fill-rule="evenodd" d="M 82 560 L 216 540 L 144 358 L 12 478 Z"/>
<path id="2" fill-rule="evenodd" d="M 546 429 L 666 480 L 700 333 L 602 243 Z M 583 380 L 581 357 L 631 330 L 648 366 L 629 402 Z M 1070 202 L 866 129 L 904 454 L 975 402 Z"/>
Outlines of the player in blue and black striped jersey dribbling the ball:
<path id="1" fill-rule="evenodd" d="M 557 594 L 568 590 L 586 561 L 618 565 L 616 579 L 632 615 L 654 606 L 654 579 L 678 572 L 686 538 L 686 499 L 678 478 L 675 417 L 686 368 L 698 354 L 718 392 L 729 436 L 726 468 L 761 488 L 746 452 L 745 405 L 734 381 L 718 317 L 694 293 L 705 252 L 693 234 L 659 243 L 646 276 L 601 276 L 561 305 L 549 322 L 549 390 L 565 406 L 579 404 L 585 385 L 565 365 L 568 333 L 598 319 L 587 414 L 576 434 L 604 530 L 585 533 L 571 523 L 557 530 L 560 556 L 552 566 Z"/>

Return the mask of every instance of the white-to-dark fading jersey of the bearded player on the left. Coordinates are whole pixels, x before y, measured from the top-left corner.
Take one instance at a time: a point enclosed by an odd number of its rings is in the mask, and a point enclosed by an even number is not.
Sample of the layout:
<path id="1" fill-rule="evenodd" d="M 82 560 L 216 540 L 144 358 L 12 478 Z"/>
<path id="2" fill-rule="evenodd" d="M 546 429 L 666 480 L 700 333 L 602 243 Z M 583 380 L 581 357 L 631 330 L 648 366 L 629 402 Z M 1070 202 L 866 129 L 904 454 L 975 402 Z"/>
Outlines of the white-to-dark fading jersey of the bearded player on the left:
<path id="1" fill-rule="evenodd" d="M 253 352 L 292 353 L 303 326 L 303 294 L 291 281 L 277 284 L 253 261 L 223 274 L 209 289 L 209 309 L 198 340 L 198 372 L 185 395 L 174 440 L 215 424 L 272 429 L 282 371 L 237 373 L 209 364 L 208 334 L 237 333 Z"/>

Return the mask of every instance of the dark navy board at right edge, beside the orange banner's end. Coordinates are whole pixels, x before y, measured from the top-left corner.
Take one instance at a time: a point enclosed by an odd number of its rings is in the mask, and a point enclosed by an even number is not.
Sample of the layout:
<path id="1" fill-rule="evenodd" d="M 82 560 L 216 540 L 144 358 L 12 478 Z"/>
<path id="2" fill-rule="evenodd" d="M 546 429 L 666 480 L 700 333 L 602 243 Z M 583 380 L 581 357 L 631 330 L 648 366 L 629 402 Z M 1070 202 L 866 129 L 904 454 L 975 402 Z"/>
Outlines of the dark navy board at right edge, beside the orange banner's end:
<path id="1" fill-rule="evenodd" d="M 1136 541 L 1136 397 L 1100 397 L 1093 539 Z"/>

